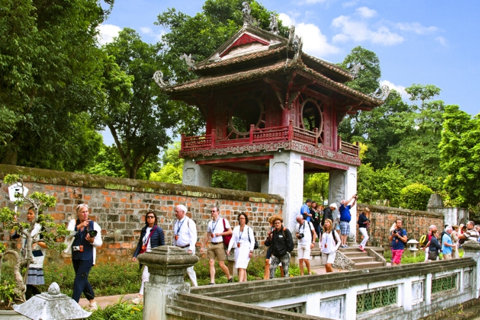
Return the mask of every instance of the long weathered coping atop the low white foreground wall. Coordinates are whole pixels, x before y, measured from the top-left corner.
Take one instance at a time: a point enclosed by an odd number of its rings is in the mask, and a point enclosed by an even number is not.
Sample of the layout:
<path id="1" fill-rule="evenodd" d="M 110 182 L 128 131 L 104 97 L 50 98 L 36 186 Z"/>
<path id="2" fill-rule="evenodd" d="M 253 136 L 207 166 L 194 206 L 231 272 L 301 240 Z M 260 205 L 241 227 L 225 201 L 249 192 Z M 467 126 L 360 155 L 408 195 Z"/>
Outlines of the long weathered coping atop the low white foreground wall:
<path id="1" fill-rule="evenodd" d="M 433 262 L 422 262 L 405 264 L 392 267 L 378 267 L 370 270 L 345 271 L 328 273 L 322 275 L 309 275 L 306 277 L 276 278 L 271 280 L 259 280 L 234 284 L 229 287 L 215 286 L 214 288 L 198 287 L 191 288 L 191 293 L 208 295 L 210 297 L 222 297 L 223 299 L 254 303 L 270 301 L 286 297 L 293 297 L 302 294 L 315 293 L 320 291 L 335 291 L 339 288 L 348 288 L 363 284 L 374 284 L 372 279 L 379 282 L 388 279 L 389 281 L 401 278 L 418 277 L 429 273 L 440 273 L 466 267 L 475 267 L 477 262 L 472 258 L 460 258 L 453 260 L 438 260 Z M 288 291 L 281 291 L 278 288 L 288 286 Z"/>

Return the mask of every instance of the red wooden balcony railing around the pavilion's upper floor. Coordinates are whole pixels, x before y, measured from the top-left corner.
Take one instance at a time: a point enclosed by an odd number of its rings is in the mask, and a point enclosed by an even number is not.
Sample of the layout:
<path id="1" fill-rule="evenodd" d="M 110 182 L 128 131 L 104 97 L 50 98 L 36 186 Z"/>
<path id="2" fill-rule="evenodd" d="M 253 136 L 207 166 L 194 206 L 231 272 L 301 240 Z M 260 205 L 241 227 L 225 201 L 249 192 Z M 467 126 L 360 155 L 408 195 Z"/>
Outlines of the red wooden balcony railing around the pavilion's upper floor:
<path id="1" fill-rule="evenodd" d="M 227 147 L 232 145 L 255 145 L 259 143 L 271 143 L 296 140 L 309 145 L 317 146 L 317 129 L 314 132 L 304 130 L 300 127 L 293 127 L 292 124 L 282 127 L 271 127 L 263 129 L 255 129 L 254 125 L 250 126 L 250 137 L 232 140 L 216 140 L 215 130 L 211 134 L 204 136 L 186 137 L 182 134 L 182 151 L 193 151 L 202 149 L 212 149 L 217 147 Z M 359 156 L 359 146 L 346 143 L 338 137 L 338 150 L 350 156 Z"/>

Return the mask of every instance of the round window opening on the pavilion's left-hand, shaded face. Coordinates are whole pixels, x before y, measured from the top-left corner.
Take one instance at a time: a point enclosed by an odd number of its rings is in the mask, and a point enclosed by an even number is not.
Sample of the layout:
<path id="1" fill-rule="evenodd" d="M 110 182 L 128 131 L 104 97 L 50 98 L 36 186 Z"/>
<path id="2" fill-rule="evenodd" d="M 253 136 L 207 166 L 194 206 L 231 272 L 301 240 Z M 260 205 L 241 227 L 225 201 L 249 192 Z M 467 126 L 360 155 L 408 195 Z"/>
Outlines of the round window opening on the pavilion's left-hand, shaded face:
<path id="1" fill-rule="evenodd" d="M 263 106 L 258 99 L 241 99 L 230 111 L 228 127 L 237 136 L 248 136 L 250 134 L 250 125 L 259 127 L 262 114 Z"/>

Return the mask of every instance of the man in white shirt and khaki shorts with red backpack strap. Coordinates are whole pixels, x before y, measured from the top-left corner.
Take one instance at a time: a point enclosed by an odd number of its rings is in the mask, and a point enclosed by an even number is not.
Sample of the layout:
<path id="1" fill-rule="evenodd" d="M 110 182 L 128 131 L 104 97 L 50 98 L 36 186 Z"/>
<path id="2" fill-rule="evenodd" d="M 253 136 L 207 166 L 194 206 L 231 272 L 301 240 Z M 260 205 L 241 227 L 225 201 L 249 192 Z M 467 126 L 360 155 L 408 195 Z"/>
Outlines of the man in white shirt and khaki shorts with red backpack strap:
<path id="1" fill-rule="evenodd" d="M 228 283 L 233 282 L 233 278 L 228 272 L 228 267 L 225 265 L 226 260 L 226 247 L 224 246 L 223 236 L 230 236 L 232 234 L 232 228 L 227 219 L 220 218 L 220 210 L 217 207 L 213 207 L 210 210 L 212 214 L 212 220 L 208 222 L 206 227 L 206 236 L 202 245 L 201 251 L 204 251 L 206 243 L 210 241 L 208 249 L 206 251 L 206 256 L 208 258 L 208 264 L 210 266 L 210 283 L 215 284 L 215 258 L 218 260 L 219 267 L 221 271 L 224 271 L 227 276 Z"/>

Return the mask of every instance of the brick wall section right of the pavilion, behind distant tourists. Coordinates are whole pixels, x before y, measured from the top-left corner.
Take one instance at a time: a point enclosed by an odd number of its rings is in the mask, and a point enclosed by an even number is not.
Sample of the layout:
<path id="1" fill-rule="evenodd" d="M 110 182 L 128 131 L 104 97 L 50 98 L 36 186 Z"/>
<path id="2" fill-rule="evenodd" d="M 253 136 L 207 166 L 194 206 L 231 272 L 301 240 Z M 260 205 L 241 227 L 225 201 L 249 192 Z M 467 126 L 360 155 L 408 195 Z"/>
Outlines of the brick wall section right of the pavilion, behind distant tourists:
<path id="1" fill-rule="evenodd" d="M 397 218 L 402 219 L 402 227 L 407 231 L 408 238 L 420 240 L 422 234 L 429 231 L 430 225 L 437 225 L 438 230 L 443 230 L 444 217 L 436 212 L 407 210 L 400 208 L 391 208 L 384 206 L 370 206 L 365 204 L 357 205 L 357 221 L 363 208 L 368 207 L 371 212 L 368 214 L 370 219 L 370 236 L 367 246 L 384 247 L 389 249 L 390 244 L 388 237 L 390 236 L 390 227 Z M 361 241 L 361 234 L 357 228 L 357 242 Z"/>

